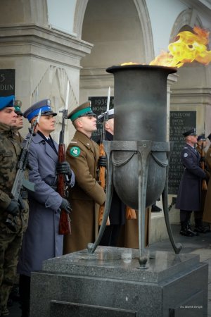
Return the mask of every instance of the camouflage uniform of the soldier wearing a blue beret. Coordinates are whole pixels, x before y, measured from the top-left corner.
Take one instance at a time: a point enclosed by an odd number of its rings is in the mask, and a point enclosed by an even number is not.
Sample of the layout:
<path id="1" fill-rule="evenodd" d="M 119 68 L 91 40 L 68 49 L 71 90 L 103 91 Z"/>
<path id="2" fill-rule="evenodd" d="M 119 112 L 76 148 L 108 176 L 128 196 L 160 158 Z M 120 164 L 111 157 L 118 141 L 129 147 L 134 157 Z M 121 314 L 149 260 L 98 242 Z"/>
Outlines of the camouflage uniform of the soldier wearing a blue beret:
<path id="1" fill-rule="evenodd" d="M 28 205 L 24 199 L 25 210 L 15 216 L 14 231 L 5 224 L 8 213 L 5 209 L 11 203 L 9 194 L 13 187 L 17 171 L 20 144 L 15 141 L 13 130 L 0 123 L 0 285 L 1 285 L 1 316 L 8 312 L 6 304 L 13 286 L 18 263 L 23 232 L 27 228 Z"/>

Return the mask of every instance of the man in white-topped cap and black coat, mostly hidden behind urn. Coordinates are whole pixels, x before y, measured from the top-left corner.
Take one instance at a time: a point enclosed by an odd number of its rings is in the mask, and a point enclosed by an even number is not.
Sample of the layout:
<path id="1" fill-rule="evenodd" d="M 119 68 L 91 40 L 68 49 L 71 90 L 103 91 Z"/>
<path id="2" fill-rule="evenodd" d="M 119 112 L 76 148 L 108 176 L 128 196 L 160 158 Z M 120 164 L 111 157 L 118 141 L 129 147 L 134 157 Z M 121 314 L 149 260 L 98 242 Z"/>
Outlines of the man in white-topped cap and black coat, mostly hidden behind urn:
<path id="1" fill-rule="evenodd" d="M 105 116 L 108 120 L 104 120 Z M 102 124 L 104 124 L 106 130 L 105 140 L 113 141 L 114 109 L 110 109 L 108 112 L 102 113 L 100 116 L 98 116 L 98 120 L 100 120 Z M 98 143 L 100 143 L 100 141 Z M 117 238 L 120 235 L 121 226 L 124 225 L 125 221 L 125 209 L 126 206 L 118 197 L 115 188 L 113 188 L 113 196 L 109 213 L 110 225 L 106 225 L 106 229 L 103 232 L 103 237 L 101 239 L 100 245 L 116 247 Z"/>

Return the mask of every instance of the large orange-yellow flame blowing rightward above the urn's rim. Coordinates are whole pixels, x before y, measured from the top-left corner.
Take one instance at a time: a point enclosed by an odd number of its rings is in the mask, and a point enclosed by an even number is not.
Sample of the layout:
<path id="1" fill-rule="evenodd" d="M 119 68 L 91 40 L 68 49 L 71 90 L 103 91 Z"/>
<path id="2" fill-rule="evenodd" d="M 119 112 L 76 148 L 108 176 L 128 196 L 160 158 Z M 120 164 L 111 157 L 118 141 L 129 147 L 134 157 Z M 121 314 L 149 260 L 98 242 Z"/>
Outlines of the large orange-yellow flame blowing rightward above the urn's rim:
<path id="1" fill-rule="evenodd" d="M 209 32 L 200 27 L 193 27 L 193 32 L 179 32 L 179 39 L 169 44 L 169 52 L 162 51 L 150 65 L 179 68 L 193 61 L 208 65 L 211 61 L 211 51 L 207 51 Z"/>

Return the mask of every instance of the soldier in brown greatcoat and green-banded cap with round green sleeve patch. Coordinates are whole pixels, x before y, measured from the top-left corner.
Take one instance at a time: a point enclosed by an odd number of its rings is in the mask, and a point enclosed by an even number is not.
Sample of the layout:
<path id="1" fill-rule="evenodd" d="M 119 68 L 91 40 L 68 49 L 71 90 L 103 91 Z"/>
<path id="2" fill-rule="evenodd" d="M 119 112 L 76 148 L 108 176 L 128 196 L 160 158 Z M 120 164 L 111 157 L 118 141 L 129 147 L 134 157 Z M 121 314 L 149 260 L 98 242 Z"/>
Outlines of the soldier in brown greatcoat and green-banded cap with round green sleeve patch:
<path id="1" fill-rule="evenodd" d="M 96 181 L 99 146 L 91 139 L 91 133 L 97 128 L 90 101 L 75 108 L 68 118 L 77 130 L 66 152 L 76 185 L 70 189 L 72 235 L 64 237 L 64 254 L 87 248 L 89 242 L 94 242 L 95 205 L 103 205 L 106 200 L 103 188 Z"/>

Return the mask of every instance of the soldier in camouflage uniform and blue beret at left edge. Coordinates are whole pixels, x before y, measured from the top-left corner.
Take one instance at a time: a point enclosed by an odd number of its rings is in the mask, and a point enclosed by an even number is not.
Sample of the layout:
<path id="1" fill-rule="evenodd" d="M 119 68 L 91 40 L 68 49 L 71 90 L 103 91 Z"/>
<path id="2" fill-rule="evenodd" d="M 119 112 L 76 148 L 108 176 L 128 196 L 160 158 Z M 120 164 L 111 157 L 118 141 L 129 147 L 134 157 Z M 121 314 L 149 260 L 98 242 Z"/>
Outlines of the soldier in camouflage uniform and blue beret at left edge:
<path id="1" fill-rule="evenodd" d="M 10 197 L 16 174 L 20 144 L 15 142 L 13 128 L 17 114 L 13 106 L 15 96 L 0 97 L 0 285 L 1 316 L 8 315 L 7 302 L 13 287 L 18 263 L 18 254 L 27 228 L 28 206 L 20 211 L 18 201 Z M 23 197 L 24 197 L 23 192 Z M 9 218 L 8 218 L 8 215 Z M 11 222 L 11 219 L 14 221 Z"/>

